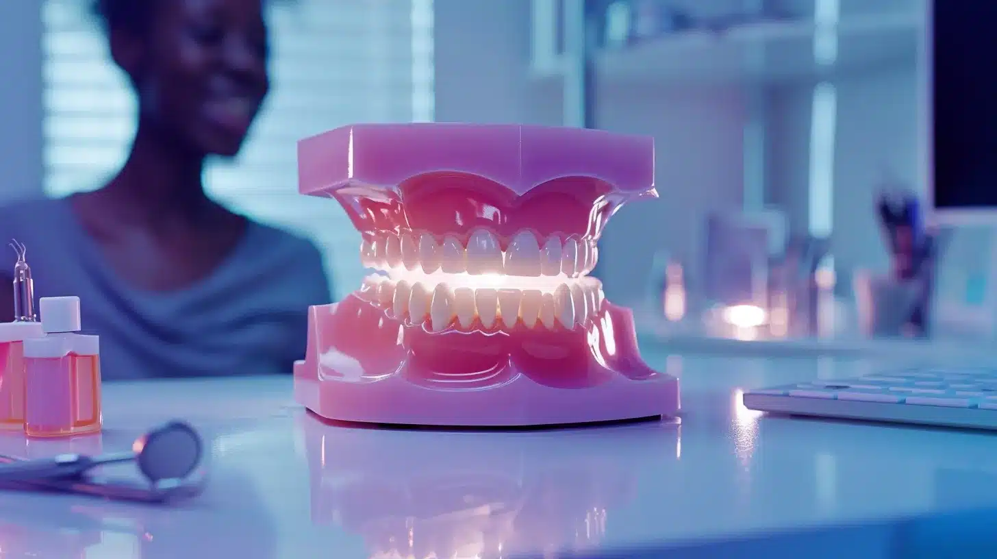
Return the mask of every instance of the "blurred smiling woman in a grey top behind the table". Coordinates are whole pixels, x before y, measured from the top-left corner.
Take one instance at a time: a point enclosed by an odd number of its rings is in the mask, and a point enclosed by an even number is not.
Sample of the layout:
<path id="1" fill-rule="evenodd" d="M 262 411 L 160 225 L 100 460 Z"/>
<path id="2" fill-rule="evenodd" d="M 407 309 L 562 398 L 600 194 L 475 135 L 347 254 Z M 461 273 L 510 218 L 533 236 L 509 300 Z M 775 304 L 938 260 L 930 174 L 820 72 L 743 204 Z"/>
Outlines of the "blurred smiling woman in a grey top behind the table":
<path id="1" fill-rule="evenodd" d="M 128 160 L 97 191 L 0 209 L 0 239 L 27 246 L 36 295 L 80 296 L 105 378 L 290 372 L 308 305 L 330 299 L 321 255 L 202 181 L 206 158 L 238 154 L 269 90 L 261 0 L 101 0 L 97 13 L 139 102 Z M 0 307 L 13 316 L 10 289 Z"/>

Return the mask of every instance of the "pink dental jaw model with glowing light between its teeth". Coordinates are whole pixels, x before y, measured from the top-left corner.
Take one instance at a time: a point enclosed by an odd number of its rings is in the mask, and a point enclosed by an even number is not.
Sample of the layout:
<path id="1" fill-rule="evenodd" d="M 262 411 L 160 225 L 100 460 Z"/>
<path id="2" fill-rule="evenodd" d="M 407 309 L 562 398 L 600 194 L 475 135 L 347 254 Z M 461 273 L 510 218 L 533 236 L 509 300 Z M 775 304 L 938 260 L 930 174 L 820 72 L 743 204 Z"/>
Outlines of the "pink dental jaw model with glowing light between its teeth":
<path id="1" fill-rule="evenodd" d="M 629 310 L 586 277 L 609 217 L 654 197 L 652 140 L 511 125 L 356 125 L 298 146 L 375 272 L 309 309 L 299 403 L 330 420 L 527 426 L 674 416 Z"/>

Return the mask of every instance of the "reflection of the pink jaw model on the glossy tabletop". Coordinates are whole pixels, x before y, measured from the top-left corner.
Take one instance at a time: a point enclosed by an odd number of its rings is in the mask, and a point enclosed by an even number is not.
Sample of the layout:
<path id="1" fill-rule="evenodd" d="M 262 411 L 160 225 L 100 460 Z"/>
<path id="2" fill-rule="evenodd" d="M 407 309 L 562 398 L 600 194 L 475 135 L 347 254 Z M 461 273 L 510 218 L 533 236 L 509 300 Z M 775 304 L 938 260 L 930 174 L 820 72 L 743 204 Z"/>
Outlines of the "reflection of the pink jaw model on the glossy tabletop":
<path id="1" fill-rule="evenodd" d="M 498 558 L 598 548 L 636 489 L 628 467 L 674 461 L 678 423 L 426 431 L 298 418 L 311 516 L 361 535 L 372 558 Z M 606 436 L 611 429 L 614 436 Z"/>

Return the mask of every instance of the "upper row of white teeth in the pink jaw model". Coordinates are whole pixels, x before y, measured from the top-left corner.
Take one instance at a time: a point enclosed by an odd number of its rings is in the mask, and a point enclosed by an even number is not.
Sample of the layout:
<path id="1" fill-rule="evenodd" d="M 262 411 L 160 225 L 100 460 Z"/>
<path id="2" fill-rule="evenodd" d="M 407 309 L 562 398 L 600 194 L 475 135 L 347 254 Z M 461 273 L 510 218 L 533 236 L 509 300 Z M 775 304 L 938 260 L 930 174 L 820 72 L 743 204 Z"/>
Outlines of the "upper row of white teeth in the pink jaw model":
<path id="1" fill-rule="evenodd" d="M 504 274 L 506 276 L 584 276 L 598 259 L 598 249 L 589 239 L 549 237 L 542 243 L 528 231 L 520 231 L 505 251 L 490 231 L 475 231 L 465 247 L 453 235 L 443 243 L 428 233 L 407 232 L 364 240 L 360 260 L 367 268 L 408 270 L 421 268 L 427 274 L 471 275 Z"/>

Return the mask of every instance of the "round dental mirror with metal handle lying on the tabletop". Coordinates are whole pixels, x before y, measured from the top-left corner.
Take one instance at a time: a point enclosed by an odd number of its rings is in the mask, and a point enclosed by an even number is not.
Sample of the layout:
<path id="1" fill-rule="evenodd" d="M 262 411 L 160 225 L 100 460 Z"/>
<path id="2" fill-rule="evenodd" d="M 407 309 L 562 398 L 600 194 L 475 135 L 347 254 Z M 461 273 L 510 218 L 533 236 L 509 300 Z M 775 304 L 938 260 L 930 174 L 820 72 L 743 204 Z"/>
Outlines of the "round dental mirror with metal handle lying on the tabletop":
<path id="1" fill-rule="evenodd" d="M 151 483 L 183 479 L 200 463 L 203 445 L 197 431 L 182 421 L 170 421 L 139 437 L 133 450 L 102 456 L 60 454 L 0 466 L 0 482 L 80 477 L 98 466 L 135 461 Z"/>

